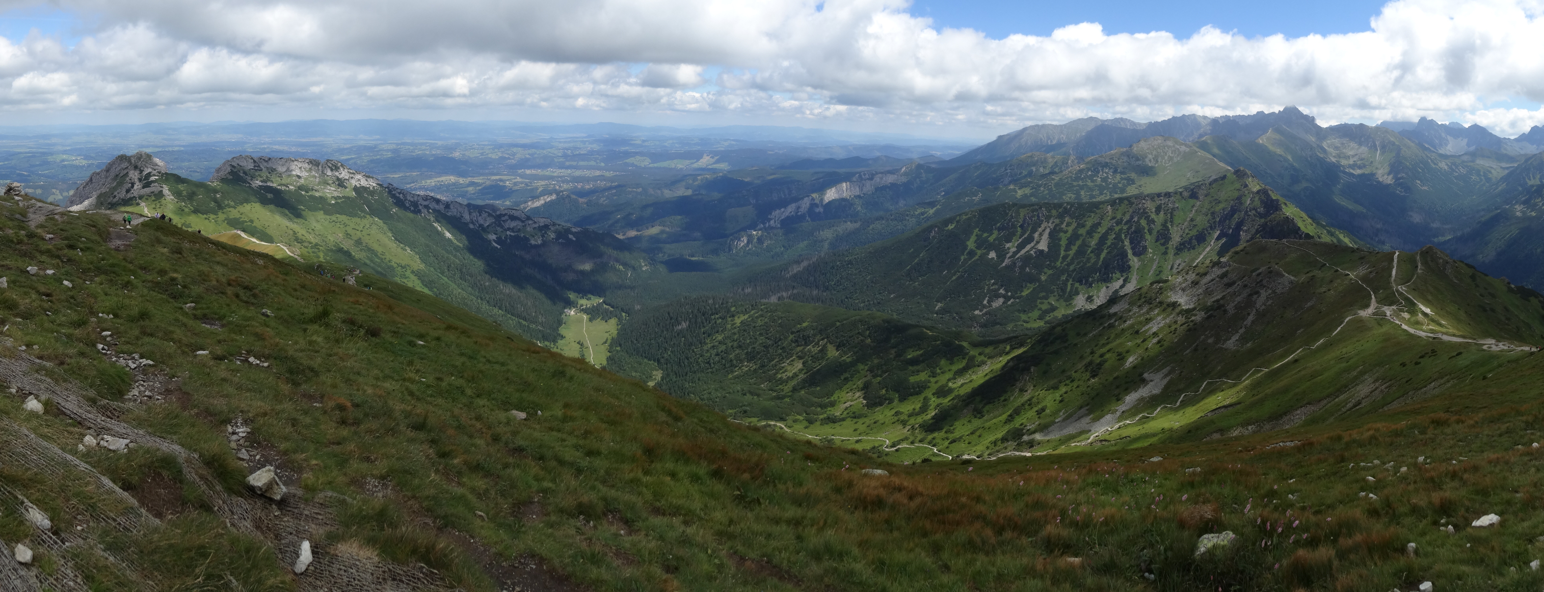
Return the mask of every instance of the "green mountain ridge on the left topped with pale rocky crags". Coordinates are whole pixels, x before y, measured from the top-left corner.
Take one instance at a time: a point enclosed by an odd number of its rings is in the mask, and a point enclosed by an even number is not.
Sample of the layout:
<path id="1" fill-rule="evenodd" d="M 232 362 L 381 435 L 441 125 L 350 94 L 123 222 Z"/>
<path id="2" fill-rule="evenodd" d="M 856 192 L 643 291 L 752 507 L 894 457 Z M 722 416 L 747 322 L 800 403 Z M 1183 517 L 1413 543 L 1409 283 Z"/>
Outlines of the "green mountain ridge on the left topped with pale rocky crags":
<path id="1" fill-rule="evenodd" d="M 289 248 L 304 261 L 354 265 L 543 342 L 560 341 L 570 293 L 599 294 L 648 268 L 608 234 L 516 210 L 452 208 L 335 162 L 238 160 L 222 165 L 210 183 L 162 174 L 164 191 L 117 207 L 165 213 L 205 234 L 239 230 L 284 245 L 264 250 Z M 290 162 L 301 165 L 286 168 Z"/>

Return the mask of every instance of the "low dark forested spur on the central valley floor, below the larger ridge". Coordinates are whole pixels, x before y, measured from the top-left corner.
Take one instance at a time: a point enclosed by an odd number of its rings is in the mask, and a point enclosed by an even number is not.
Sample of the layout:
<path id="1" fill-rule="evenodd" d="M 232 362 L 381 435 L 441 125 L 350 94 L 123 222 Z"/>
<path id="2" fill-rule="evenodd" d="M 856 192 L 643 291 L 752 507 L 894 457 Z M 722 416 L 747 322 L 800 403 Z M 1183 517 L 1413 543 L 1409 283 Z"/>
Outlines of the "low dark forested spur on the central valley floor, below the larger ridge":
<path id="1" fill-rule="evenodd" d="M 943 396 L 960 387 L 950 384 L 956 375 L 1022 347 L 879 313 L 721 296 L 633 314 L 618 344 L 628 359 L 608 368 L 675 396 L 735 416 L 812 422 L 826 413 L 860 419 L 902 399 Z M 845 413 L 849 407 L 852 413 Z"/>

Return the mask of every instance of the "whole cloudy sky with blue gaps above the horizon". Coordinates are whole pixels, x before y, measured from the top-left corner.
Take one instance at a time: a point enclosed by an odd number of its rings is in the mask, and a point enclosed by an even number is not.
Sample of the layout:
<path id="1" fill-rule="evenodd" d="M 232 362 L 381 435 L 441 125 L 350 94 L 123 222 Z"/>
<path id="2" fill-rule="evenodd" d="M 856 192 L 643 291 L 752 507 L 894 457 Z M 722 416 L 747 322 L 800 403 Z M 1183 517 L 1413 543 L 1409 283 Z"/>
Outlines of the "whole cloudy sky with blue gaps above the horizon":
<path id="1" fill-rule="evenodd" d="M 1544 125 L 1544 0 L 0 0 L 0 125 Z"/>

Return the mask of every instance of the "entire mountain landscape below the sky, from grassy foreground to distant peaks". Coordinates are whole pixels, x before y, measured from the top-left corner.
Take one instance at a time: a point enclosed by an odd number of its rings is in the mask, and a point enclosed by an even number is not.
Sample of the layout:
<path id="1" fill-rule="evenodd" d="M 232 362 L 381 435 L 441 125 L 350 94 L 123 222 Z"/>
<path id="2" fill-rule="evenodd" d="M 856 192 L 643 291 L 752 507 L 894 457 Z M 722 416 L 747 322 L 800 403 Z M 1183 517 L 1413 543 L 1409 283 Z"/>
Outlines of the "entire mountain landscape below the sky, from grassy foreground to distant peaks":
<path id="1" fill-rule="evenodd" d="M 9 185 L 0 587 L 1536 589 L 1544 154 L 1481 131 Z"/>

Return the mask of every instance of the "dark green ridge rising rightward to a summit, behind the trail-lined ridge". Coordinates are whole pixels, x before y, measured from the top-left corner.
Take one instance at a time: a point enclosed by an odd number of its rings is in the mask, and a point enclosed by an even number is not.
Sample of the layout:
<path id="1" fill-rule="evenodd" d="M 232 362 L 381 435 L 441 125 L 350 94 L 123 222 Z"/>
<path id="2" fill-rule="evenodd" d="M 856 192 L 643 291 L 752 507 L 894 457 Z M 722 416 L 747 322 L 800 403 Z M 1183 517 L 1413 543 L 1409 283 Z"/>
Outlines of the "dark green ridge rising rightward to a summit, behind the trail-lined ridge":
<path id="1" fill-rule="evenodd" d="M 1098 307 L 1255 237 L 1345 240 L 1235 171 L 1170 193 L 971 210 L 865 248 L 777 267 L 746 290 L 1002 333 Z"/>

